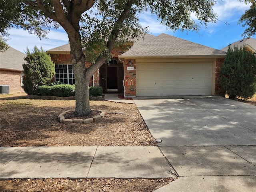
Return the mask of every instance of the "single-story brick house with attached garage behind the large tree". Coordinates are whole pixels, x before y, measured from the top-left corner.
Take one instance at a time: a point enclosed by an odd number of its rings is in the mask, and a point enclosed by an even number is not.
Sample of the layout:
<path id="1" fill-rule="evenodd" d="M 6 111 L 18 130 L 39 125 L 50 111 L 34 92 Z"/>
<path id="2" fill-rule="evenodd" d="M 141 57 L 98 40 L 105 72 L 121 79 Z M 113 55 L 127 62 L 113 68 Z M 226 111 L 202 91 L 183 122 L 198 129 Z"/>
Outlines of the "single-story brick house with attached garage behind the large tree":
<path id="1" fill-rule="evenodd" d="M 47 52 L 56 64 L 55 80 L 74 83 L 69 44 Z M 174 36 L 146 34 L 130 49 L 114 49 L 112 60 L 94 74 L 90 86 L 124 92 L 125 97 L 224 95 L 219 69 L 225 57 L 224 51 Z"/>

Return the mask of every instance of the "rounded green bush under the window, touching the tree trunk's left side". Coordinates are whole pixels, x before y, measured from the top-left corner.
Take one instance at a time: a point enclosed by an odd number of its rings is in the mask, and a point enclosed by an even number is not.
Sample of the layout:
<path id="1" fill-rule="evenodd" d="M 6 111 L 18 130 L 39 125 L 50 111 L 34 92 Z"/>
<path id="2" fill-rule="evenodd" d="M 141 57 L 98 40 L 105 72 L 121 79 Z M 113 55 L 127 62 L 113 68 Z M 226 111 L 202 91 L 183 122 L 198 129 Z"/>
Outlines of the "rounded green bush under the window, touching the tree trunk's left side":
<path id="1" fill-rule="evenodd" d="M 75 95 L 75 87 L 68 84 L 54 85 L 51 89 L 52 96 L 69 97 Z"/>

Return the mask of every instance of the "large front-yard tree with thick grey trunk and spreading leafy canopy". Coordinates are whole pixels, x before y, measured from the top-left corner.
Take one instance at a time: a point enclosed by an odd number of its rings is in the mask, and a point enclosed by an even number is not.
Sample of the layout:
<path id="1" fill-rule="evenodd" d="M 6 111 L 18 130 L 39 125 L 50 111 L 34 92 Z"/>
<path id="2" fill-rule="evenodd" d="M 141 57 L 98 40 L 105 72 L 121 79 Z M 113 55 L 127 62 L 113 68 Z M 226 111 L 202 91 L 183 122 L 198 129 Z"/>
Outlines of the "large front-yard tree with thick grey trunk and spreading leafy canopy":
<path id="1" fill-rule="evenodd" d="M 114 46 L 146 32 L 139 24 L 140 14 L 150 11 L 171 30 L 199 30 L 216 21 L 214 4 L 215 0 L 1 0 L 0 32 L 22 27 L 43 37 L 48 28 L 64 28 L 76 80 L 75 113 L 83 116 L 91 111 L 88 86 L 94 72 L 111 58 Z M 92 62 L 89 68 L 86 59 Z"/>

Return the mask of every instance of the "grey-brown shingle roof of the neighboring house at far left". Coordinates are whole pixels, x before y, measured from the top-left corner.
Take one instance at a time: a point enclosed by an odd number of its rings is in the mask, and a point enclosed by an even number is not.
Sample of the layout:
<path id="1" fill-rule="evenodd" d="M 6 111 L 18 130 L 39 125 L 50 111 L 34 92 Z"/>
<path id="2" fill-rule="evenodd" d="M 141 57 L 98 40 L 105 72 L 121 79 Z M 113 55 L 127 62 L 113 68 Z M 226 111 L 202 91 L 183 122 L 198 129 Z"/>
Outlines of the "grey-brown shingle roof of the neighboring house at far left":
<path id="1" fill-rule="evenodd" d="M 26 54 L 9 47 L 5 52 L 0 52 L 0 68 L 22 72 L 25 57 Z"/>

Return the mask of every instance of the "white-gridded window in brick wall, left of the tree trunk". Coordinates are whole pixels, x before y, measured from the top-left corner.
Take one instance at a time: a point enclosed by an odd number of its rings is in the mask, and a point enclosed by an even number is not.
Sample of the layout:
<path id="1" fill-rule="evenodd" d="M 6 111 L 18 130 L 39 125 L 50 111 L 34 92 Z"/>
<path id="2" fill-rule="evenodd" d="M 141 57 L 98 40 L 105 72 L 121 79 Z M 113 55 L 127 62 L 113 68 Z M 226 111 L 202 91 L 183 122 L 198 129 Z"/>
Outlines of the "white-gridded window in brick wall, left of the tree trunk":
<path id="1" fill-rule="evenodd" d="M 74 71 L 71 64 L 55 65 L 55 81 L 66 84 L 75 84 Z"/>

